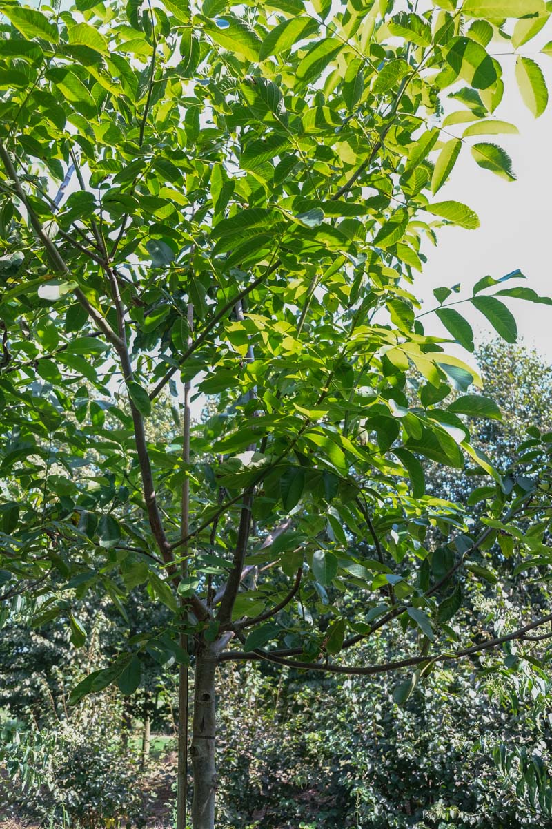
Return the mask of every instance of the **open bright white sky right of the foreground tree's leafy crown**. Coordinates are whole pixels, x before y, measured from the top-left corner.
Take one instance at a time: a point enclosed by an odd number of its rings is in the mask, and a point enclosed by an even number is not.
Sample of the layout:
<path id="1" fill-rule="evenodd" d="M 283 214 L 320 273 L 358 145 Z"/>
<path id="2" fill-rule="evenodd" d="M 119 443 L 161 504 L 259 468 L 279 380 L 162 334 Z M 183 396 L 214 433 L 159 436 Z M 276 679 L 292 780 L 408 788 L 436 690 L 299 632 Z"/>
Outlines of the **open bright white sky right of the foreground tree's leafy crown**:
<path id="1" fill-rule="evenodd" d="M 550 90 L 549 109 L 540 119 L 533 118 L 517 90 L 516 58 L 502 57 L 506 92 L 494 117 L 516 124 L 520 134 L 478 139 L 498 143 L 509 153 L 517 181 L 506 182 L 482 170 L 472 154 L 463 149 L 449 182 L 436 196 L 439 201 L 463 201 L 472 207 L 478 213 L 481 227 L 478 230 L 441 228 L 438 247 L 425 249 L 428 262 L 414 292 L 424 299 L 424 309 L 436 304 L 431 294 L 433 288 L 450 287 L 459 282 L 467 289 L 462 296 L 469 295 L 469 286 L 482 276 L 490 274 L 499 278 L 517 268 L 526 275 L 526 282 L 511 284 L 525 284 L 537 293 L 552 297 L 552 58 L 535 55 L 550 39 L 552 27 L 547 26 L 541 36 L 520 50 L 534 58 L 545 72 Z M 492 46 L 488 51 L 492 52 Z M 458 128 L 455 134 L 461 134 Z M 507 304 L 516 317 L 524 344 L 535 347 L 552 361 L 552 307 L 519 300 Z M 476 343 L 496 336 L 486 319 L 468 303 L 458 311 L 472 324 Z M 424 323 L 427 333 L 448 336 L 434 315 L 425 317 Z"/>

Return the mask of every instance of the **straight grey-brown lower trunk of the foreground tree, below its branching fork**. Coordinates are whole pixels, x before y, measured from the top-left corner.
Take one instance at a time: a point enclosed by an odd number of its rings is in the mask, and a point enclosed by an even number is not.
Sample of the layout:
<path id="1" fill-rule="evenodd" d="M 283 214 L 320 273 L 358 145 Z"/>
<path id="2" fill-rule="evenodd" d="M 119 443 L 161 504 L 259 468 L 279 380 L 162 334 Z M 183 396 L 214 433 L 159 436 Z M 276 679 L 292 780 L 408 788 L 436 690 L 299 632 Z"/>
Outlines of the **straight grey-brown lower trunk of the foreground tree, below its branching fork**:
<path id="1" fill-rule="evenodd" d="M 217 657 L 213 645 L 209 642 L 201 643 L 195 662 L 194 720 L 190 749 L 194 771 L 194 829 L 214 829 L 214 793 L 217 783 L 214 764 L 216 666 Z"/>

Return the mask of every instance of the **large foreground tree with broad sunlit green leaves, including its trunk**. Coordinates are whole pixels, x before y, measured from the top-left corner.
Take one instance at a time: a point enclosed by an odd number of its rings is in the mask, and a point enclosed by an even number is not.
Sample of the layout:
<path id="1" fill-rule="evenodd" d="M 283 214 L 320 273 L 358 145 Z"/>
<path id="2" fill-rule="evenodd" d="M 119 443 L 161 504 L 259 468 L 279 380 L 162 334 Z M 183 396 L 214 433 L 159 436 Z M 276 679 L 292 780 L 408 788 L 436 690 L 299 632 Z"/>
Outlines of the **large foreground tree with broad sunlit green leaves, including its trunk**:
<path id="1" fill-rule="evenodd" d="M 2 12 L 14 90 L 0 138 L 2 567 L 41 593 L 42 622 L 68 618 L 77 644 L 68 585 L 104 591 L 126 620 L 137 587 L 170 610 L 162 633 L 129 638 L 72 701 L 113 681 L 132 693 L 147 647 L 180 661 L 182 829 L 191 642 L 192 820 L 210 829 L 219 663 L 411 667 L 406 700 L 437 662 L 552 618 L 483 641 L 464 630 L 458 644 L 449 626 L 458 571 L 486 578 L 495 531 L 545 555 L 548 444 L 535 437 L 533 477 L 502 480 L 463 420 L 499 418 L 497 406 L 468 392 L 477 372 L 425 333 L 411 292 L 436 226 L 478 226 L 468 206 L 434 200 L 464 145 L 515 177 L 504 150 L 479 140 L 515 129 L 492 117 L 502 68 L 487 46 L 511 31 L 523 45 L 550 12 L 540 0 L 372 2 L 331 16 L 295 0 Z M 539 65 L 519 56 L 517 78 L 541 114 Z M 449 96 L 458 110 L 443 118 Z M 78 188 L 65 199 L 71 167 Z M 507 341 L 502 297 L 550 302 L 510 288 L 520 276 L 485 277 L 469 300 Z M 435 313 L 471 350 L 449 297 L 440 289 Z M 414 403 L 410 366 L 425 378 Z M 151 401 L 179 376 L 182 436 L 152 444 Z M 192 430 L 194 378 L 218 402 Z M 85 407 L 85 381 L 112 401 L 118 429 L 104 428 L 97 400 Z M 453 386 L 464 394 L 446 405 Z M 424 494 L 418 456 L 458 469 L 468 458 L 491 476 L 482 526 Z M 365 536 L 372 558 L 354 543 Z M 386 624 L 406 658 L 336 659 Z"/>

